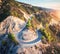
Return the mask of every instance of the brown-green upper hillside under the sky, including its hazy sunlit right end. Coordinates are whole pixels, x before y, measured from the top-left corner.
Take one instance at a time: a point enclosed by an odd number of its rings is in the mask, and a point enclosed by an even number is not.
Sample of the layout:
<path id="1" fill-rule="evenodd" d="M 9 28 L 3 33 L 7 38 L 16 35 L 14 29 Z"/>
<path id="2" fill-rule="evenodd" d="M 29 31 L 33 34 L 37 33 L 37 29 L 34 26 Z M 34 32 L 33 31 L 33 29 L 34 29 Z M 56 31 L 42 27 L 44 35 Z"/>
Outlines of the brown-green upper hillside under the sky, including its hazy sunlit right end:
<path id="1" fill-rule="evenodd" d="M 29 18 L 32 18 L 30 22 L 30 28 L 34 30 L 37 27 L 40 28 L 40 26 L 38 25 L 42 25 L 43 27 L 46 27 L 46 25 L 48 25 L 49 27 L 50 25 L 56 23 L 59 24 L 60 18 L 58 19 L 57 14 L 54 14 L 56 12 L 57 11 L 52 9 L 36 7 L 30 4 L 17 2 L 15 0 L 1 0 L 0 2 L 0 22 L 4 23 L 3 20 L 5 20 L 9 16 L 14 16 L 16 17 L 16 19 L 19 18 L 24 22 L 26 22 Z M 9 20 L 7 19 L 7 21 Z"/>

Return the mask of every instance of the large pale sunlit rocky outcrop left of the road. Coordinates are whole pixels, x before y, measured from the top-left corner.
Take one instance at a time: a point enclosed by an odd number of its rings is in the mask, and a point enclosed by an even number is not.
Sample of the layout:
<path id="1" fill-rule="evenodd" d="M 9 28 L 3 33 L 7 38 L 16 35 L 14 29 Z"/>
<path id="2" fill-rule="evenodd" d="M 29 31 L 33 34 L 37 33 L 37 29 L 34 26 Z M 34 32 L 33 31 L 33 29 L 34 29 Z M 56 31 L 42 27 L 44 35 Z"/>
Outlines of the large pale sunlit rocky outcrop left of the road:
<path id="1" fill-rule="evenodd" d="M 0 23 L 0 32 L 18 32 L 23 27 L 24 23 L 23 20 L 17 17 L 9 16 Z"/>

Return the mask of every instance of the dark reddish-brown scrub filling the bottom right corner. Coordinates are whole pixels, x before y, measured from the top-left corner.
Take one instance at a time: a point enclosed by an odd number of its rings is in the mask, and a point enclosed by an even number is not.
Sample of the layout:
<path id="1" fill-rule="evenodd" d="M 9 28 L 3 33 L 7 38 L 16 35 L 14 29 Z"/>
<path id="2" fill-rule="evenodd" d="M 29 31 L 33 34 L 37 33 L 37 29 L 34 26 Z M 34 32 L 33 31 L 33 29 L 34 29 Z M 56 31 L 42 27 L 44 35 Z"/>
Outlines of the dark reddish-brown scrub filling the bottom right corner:
<path id="1" fill-rule="evenodd" d="M 52 43 L 50 46 L 45 47 L 43 54 L 60 54 L 60 47 L 57 44 Z"/>

